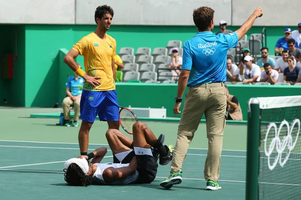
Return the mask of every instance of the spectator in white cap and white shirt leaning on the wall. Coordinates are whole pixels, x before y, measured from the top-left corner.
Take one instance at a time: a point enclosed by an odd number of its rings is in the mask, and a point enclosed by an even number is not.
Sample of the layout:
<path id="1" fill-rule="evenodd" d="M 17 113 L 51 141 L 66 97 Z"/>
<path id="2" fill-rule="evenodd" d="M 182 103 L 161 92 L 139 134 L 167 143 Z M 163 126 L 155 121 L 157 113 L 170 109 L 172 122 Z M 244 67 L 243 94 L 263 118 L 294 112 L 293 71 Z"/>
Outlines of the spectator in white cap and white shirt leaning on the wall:
<path id="1" fill-rule="evenodd" d="M 255 82 L 260 81 L 260 73 L 260 67 L 257 64 L 252 63 L 252 57 L 250 55 L 245 56 L 244 66 L 240 68 L 240 74 L 244 74 L 245 76 L 242 82 L 244 84 L 248 82 L 255 84 Z"/>

